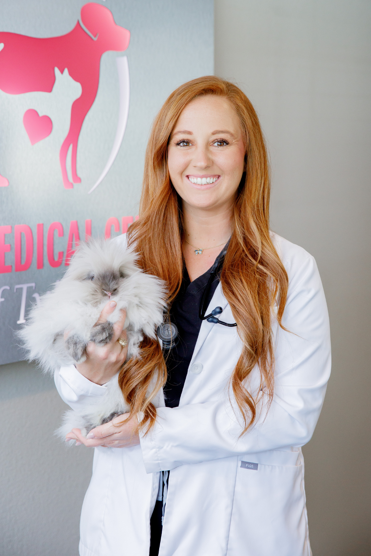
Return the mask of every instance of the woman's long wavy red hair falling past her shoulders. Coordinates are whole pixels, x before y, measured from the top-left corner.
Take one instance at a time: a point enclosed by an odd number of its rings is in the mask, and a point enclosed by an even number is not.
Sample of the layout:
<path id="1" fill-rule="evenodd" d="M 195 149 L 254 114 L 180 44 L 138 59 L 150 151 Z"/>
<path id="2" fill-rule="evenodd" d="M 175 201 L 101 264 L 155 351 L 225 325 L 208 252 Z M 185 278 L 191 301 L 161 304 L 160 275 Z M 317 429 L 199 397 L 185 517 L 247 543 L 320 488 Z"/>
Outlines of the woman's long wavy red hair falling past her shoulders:
<path id="1" fill-rule="evenodd" d="M 223 294 L 243 341 L 230 385 L 243 419 L 244 434 L 256 416 L 256 399 L 245 387 L 246 378 L 256 365 L 261 389 L 269 403 L 273 398 L 272 309 L 278 301 L 277 317 L 282 326 L 288 276 L 269 234 L 270 171 L 263 133 L 249 99 L 233 83 L 214 76 L 200 77 L 184 83 L 167 98 L 152 126 L 140 219 L 130 226 L 128 243 L 135 246 L 142 269 L 165 280 L 170 305 L 180 289 L 184 258 L 181 206 L 169 177 L 167 144 L 184 107 L 201 95 L 216 95 L 231 103 L 239 116 L 246 145 L 244 180 L 236 198 L 233 233 L 220 276 Z M 156 419 L 152 401 L 166 382 L 166 363 L 156 341 L 146 338 L 142 348 L 141 360 L 128 361 L 123 366 L 120 386 L 131 412 L 141 412 L 144 417 L 141 428 L 147 425 L 149 430 Z"/>

